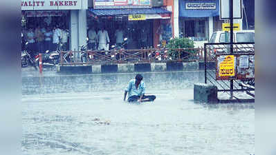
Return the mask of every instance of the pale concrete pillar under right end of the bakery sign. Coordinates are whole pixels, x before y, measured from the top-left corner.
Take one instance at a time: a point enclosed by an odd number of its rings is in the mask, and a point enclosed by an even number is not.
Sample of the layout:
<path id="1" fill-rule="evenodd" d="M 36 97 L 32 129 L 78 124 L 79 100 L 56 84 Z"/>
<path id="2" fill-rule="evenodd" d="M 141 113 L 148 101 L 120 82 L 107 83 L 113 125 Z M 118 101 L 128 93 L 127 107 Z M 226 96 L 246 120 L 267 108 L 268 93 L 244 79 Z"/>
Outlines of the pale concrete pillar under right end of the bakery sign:
<path id="1" fill-rule="evenodd" d="M 78 50 L 78 10 L 71 10 L 71 23 L 70 23 L 70 50 Z"/>

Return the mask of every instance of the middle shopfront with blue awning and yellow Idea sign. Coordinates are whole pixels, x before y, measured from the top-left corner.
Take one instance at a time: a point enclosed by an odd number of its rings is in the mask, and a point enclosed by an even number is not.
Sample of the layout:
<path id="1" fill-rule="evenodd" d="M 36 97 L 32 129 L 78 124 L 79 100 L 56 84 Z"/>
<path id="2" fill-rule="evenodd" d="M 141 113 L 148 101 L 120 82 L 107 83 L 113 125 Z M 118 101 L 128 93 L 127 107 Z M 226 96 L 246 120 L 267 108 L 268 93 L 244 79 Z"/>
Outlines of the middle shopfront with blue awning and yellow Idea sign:
<path id="1" fill-rule="evenodd" d="M 96 31 L 104 27 L 110 45 L 116 43 L 115 32 L 122 28 L 128 39 L 127 49 L 157 48 L 172 37 L 171 12 L 165 8 L 152 8 L 151 0 L 109 1 L 95 0 L 87 13 L 87 27 Z"/>

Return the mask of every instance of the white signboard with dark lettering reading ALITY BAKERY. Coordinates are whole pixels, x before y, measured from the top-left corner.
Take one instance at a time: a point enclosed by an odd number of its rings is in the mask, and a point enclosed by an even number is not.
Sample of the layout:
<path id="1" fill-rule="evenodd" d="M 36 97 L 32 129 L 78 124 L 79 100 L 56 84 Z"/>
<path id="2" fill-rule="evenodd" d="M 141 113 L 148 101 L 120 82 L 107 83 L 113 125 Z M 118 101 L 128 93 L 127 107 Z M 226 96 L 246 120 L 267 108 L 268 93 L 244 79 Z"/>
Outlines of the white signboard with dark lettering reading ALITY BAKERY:
<path id="1" fill-rule="evenodd" d="M 82 10 L 87 0 L 21 0 L 21 10 Z"/>

